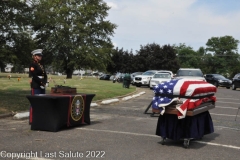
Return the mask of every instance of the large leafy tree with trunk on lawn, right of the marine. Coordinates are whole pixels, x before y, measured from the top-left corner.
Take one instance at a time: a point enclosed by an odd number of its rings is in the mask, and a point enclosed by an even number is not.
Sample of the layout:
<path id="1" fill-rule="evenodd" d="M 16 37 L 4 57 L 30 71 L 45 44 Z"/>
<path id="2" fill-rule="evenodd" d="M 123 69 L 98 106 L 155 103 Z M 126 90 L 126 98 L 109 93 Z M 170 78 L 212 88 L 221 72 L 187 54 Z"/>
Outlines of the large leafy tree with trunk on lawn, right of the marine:
<path id="1" fill-rule="evenodd" d="M 72 78 L 74 69 L 106 69 L 115 24 L 102 0 L 33 0 L 36 42 Z"/>

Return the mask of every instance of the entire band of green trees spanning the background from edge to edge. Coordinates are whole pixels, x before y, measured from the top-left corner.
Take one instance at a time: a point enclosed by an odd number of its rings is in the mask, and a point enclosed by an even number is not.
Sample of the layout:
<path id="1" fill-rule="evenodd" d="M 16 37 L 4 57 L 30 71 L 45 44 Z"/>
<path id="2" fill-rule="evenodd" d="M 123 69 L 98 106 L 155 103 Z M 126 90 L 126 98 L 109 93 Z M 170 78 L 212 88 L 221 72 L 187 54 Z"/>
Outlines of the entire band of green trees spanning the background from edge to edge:
<path id="1" fill-rule="evenodd" d="M 197 51 L 185 43 L 140 45 L 133 51 L 114 48 L 116 24 L 105 20 L 110 9 L 102 0 L 1 0 L 0 67 L 22 72 L 31 51 L 44 49 L 48 70 L 71 78 L 76 69 L 108 73 L 200 68 L 232 77 L 240 72 L 239 40 L 211 37 Z"/>

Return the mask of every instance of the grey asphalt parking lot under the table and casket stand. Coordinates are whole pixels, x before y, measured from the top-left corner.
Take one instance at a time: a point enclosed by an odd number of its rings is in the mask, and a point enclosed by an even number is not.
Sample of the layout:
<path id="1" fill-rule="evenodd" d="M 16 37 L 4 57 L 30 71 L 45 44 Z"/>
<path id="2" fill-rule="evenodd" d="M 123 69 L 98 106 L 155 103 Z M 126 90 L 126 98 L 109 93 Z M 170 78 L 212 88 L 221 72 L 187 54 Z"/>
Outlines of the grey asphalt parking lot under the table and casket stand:
<path id="1" fill-rule="evenodd" d="M 144 114 L 153 92 L 138 89 L 146 93 L 92 107 L 90 125 L 59 132 L 32 131 L 27 119 L 0 119 L 0 159 L 239 159 L 239 89 L 218 88 L 216 108 L 210 110 L 214 133 L 191 140 L 188 149 L 183 141 L 160 143 L 155 135 L 158 117 Z"/>

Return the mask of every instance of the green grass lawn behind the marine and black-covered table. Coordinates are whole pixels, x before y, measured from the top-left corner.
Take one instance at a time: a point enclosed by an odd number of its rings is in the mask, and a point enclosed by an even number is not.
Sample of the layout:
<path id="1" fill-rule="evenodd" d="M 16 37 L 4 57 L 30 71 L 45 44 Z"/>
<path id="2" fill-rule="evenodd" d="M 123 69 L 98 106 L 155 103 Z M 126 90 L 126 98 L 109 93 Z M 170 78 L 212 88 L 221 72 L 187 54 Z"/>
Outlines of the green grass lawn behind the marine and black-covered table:
<path id="1" fill-rule="evenodd" d="M 8 75 L 11 75 L 10 79 Z M 95 94 L 93 101 L 126 95 L 136 90 L 135 86 L 126 89 L 122 87 L 122 83 L 99 80 L 95 77 L 81 79 L 80 76 L 73 76 L 72 79 L 65 79 L 65 75 L 48 75 L 49 79 L 50 77 L 52 80 L 46 89 L 47 94 L 50 94 L 51 87 L 55 87 L 55 85 L 69 86 L 76 88 L 78 93 Z M 0 114 L 29 109 L 30 103 L 26 95 L 30 95 L 30 80 L 28 74 L 0 73 Z"/>

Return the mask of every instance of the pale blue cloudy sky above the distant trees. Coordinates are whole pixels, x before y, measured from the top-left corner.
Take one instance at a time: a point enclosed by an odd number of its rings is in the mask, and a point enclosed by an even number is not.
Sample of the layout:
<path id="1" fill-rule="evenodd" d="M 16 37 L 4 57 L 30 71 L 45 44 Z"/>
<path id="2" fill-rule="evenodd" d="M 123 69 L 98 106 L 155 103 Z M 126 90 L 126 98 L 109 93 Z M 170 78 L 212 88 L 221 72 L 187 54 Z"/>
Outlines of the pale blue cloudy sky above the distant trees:
<path id="1" fill-rule="evenodd" d="M 118 25 L 112 42 L 124 50 L 140 45 L 206 47 L 211 37 L 240 40 L 240 0 L 106 0 L 107 20 Z"/>

